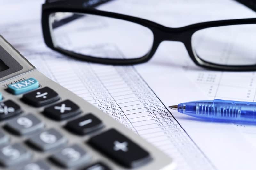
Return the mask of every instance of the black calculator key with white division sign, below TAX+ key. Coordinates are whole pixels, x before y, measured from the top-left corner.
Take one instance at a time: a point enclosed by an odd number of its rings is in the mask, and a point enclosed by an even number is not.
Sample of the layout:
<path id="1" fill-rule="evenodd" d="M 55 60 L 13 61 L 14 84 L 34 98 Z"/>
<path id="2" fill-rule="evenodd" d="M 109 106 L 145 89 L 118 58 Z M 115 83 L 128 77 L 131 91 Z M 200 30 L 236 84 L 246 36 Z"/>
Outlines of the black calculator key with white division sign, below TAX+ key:
<path id="1" fill-rule="evenodd" d="M 23 95 L 22 100 L 26 103 L 40 107 L 60 99 L 58 93 L 49 87 L 44 87 Z"/>

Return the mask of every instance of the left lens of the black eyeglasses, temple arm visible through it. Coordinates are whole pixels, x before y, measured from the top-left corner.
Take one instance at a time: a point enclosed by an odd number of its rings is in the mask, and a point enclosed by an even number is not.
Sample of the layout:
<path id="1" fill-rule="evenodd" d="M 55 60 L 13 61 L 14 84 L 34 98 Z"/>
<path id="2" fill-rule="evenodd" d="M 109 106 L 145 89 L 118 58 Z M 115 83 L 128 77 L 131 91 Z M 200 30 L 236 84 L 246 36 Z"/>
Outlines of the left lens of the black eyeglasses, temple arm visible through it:
<path id="1" fill-rule="evenodd" d="M 151 50 L 154 40 L 147 27 L 99 15 L 55 12 L 50 23 L 55 46 L 96 58 L 140 58 Z"/>

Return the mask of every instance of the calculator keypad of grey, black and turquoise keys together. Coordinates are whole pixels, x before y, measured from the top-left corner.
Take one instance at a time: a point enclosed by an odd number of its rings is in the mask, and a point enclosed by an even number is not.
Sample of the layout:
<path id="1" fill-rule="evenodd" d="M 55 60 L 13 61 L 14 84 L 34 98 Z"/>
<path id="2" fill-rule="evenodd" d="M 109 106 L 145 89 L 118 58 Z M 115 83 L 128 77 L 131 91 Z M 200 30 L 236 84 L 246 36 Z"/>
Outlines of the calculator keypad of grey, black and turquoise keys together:
<path id="1" fill-rule="evenodd" d="M 60 100 L 58 93 L 49 87 L 37 89 L 39 87 L 39 83 L 38 86 L 37 83 L 36 79 L 29 78 L 27 81 L 22 81 L 12 87 L 8 86 L 8 90 L 16 95 L 27 92 L 22 95 L 21 100 L 30 106 L 41 107 L 49 104 L 45 108 L 38 109 L 44 116 L 51 119 L 49 121 L 72 119 L 82 113 L 74 101 L 66 99 L 57 103 Z M 26 87 L 23 87 L 23 84 Z M 13 87 L 17 89 L 16 92 L 14 92 Z M 22 112 L 21 107 L 12 100 L 0 102 L 0 120 L 10 118 L 4 123 L 3 128 L 7 132 L 22 136 L 22 142 L 8 144 L 12 142 L 12 138 L 0 130 L 0 165 L 19 170 L 53 170 L 53 165 L 68 169 L 111 170 L 100 161 L 92 164 L 93 156 L 84 147 L 81 147 L 80 140 L 80 144 L 68 144 L 68 138 L 60 132 L 61 129 L 59 131 L 48 127 L 47 123 L 40 119 L 40 117 L 42 118 L 41 114 L 25 112 L 24 115 L 17 116 Z M 14 118 L 11 119 L 11 117 Z M 105 125 L 94 113 L 83 114 L 72 120 L 62 121 L 60 124 L 69 131 L 65 133 L 88 135 L 91 132 L 98 132 L 98 135 L 89 138 L 87 143 L 99 153 L 105 154 L 126 168 L 138 167 L 151 160 L 147 151 L 115 129 L 100 133 Z M 23 138 L 25 138 L 24 141 Z M 83 139 L 81 138 L 81 140 Z M 82 142 L 86 144 L 86 142 Z M 29 149 L 23 143 L 32 150 L 40 150 L 42 154 L 45 152 L 47 158 L 38 159 L 36 156 L 36 160 L 34 160 L 34 153 L 28 151 Z"/>

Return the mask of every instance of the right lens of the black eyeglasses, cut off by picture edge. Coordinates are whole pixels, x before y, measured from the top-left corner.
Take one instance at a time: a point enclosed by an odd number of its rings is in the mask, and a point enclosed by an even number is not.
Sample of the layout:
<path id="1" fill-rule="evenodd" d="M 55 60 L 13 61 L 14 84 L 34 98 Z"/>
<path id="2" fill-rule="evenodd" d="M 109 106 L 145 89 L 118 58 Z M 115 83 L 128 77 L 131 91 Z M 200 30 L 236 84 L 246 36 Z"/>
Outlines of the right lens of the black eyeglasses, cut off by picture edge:
<path id="1" fill-rule="evenodd" d="M 192 36 L 195 55 L 220 65 L 255 65 L 255 44 L 256 24 L 211 27 L 199 30 Z"/>

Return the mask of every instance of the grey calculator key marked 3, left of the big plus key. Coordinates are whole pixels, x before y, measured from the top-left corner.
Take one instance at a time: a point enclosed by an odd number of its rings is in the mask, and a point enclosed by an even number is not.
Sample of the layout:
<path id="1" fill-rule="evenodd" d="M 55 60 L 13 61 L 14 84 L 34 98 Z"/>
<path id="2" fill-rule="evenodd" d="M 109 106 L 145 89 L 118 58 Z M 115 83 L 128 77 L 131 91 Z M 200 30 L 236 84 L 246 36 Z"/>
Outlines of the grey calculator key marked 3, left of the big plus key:
<path id="1" fill-rule="evenodd" d="M 51 157 L 54 162 L 65 168 L 86 164 L 90 158 L 91 156 L 77 144 L 61 149 Z"/>

